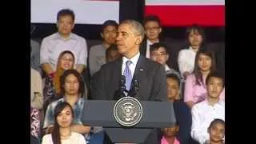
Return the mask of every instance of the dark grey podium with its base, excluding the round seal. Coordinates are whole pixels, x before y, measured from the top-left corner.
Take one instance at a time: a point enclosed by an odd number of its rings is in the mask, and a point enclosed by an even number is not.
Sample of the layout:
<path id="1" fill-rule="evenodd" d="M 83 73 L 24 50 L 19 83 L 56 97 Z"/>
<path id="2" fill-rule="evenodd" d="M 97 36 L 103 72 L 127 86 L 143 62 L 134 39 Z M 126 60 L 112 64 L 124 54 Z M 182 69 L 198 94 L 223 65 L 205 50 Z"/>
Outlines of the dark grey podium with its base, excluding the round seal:
<path id="1" fill-rule="evenodd" d="M 82 123 L 102 126 L 112 142 L 142 143 L 154 128 L 173 126 L 176 122 L 172 102 L 140 101 L 143 114 L 135 126 L 122 126 L 114 118 L 117 101 L 87 100 L 83 106 Z"/>

